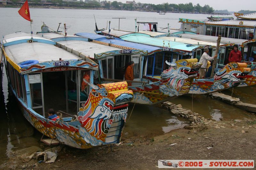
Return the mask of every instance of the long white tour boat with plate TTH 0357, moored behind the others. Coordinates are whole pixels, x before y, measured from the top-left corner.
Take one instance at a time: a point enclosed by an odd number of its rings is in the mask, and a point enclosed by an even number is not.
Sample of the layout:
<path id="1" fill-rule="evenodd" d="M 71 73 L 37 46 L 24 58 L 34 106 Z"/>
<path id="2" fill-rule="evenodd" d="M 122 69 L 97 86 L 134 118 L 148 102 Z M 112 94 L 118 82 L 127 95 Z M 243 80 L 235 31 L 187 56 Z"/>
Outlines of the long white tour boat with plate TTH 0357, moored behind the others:
<path id="1" fill-rule="evenodd" d="M 195 32 L 202 35 L 211 35 L 226 38 L 251 40 L 256 39 L 256 13 L 247 15 L 234 13 L 237 19 L 220 21 L 201 21 L 196 19 L 179 18 L 182 31 Z"/>

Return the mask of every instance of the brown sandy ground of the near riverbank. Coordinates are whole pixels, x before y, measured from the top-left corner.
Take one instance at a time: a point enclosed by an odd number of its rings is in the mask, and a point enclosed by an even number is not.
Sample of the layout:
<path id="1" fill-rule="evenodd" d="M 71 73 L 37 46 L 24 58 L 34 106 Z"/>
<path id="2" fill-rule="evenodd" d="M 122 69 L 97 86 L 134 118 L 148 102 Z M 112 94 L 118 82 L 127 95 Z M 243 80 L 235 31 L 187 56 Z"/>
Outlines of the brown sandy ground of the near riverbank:
<path id="1" fill-rule="evenodd" d="M 158 169 L 159 159 L 254 159 L 255 134 L 255 120 L 223 120 L 196 129 L 176 129 L 154 138 L 126 137 L 121 144 L 112 145 L 112 151 L 110 146 L 88 150 L 65 146 L 54 163 L 38 163 L 40 159 L 24 163 L 14 156 L 2 168 Z"/>

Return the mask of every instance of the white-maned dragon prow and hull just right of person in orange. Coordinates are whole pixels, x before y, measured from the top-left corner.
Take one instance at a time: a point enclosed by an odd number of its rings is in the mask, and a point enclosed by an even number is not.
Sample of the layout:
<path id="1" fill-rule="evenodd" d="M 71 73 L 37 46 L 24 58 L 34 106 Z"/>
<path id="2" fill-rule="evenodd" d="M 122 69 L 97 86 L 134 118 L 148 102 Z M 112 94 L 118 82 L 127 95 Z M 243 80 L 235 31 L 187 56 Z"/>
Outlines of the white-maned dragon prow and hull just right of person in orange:
<path id="1" fill-rule="evenodd" d="M 197 59 L 181 59 L 166 64 L 170 66 L 162 72 L 160 78 L 144 76 L 144 80 L 151 83 L 144 86 L 129 86 L 133 91 L 134 102 L 142 104 L 156 104 L 189 92 L 193 79 L 197 76 L 202 63 Z"/>

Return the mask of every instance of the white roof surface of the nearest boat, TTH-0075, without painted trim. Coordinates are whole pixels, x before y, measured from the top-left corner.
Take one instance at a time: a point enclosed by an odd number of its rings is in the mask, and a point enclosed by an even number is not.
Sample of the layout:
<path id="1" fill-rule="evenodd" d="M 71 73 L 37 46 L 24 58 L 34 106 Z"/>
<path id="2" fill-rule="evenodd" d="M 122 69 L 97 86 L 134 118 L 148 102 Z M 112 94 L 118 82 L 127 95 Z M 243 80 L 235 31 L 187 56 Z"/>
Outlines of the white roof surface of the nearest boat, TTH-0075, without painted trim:
<path id="1" fill-rule="evenodd" d="M 17 40 L 30 39 L 29 33 L 14 33 L 4 36 L 3 44 L 7 44 Z M 27 60 L 38 60 L 39 63 L 47 61 L 59 60 L 81 60 L 78 57 L 62 48 L 56 47 L 53 44 L 47 44 L 42 42 L 35 42 L 35 40 L 41 39 L 44 41 L 51 41 L 44 37 L 33 35 L 34 42 L 24 42 L 4 47 L 5 53 L 16 64 Z M 52 41 L 53 42 L 53 41 Z"/>

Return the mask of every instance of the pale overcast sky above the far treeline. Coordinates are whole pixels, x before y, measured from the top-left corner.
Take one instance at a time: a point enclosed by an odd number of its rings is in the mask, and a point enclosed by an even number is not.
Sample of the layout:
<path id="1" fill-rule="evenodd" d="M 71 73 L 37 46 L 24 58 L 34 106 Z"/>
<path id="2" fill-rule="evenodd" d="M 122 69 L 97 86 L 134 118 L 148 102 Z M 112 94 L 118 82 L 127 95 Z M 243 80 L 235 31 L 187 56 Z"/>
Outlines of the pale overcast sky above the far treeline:
<path id="1" fill-rule="evenodd" d="M 113 2 L 114 0 L 110 0 Z M 116 0 L 117 2 L 125 3 L 126 0 Z M 133 0 L 128 0 L 133 1 Z M 186 4 L 192 2 L 193 5 L 200 4 L 200 6 L 209 5 L 214 10 L 228 10 L 228 11 L 240 11 L 250 10 L 256 11 L 256 0 L 135 0 L 136 3 L 147 4 Z"/>

